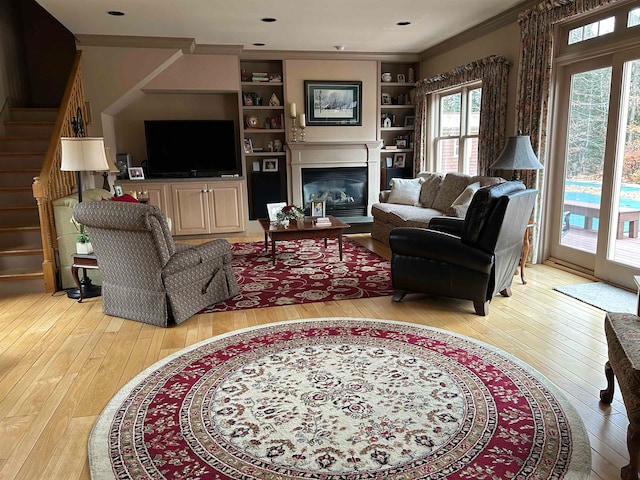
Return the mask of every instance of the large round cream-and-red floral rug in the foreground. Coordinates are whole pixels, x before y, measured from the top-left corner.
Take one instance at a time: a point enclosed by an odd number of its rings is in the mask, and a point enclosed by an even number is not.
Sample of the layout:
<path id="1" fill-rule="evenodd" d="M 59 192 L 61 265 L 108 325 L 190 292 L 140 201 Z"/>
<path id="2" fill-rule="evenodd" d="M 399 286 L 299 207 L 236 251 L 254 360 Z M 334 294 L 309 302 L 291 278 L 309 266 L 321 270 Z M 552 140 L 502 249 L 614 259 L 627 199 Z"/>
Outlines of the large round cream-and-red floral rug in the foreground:
<path id="1" fill-rule="evenodd" d="M 531 367 L 443 330 L 281 322 L 151 366 L 98 418 L 93 479 L 587 479 L 574 407 Z"/>

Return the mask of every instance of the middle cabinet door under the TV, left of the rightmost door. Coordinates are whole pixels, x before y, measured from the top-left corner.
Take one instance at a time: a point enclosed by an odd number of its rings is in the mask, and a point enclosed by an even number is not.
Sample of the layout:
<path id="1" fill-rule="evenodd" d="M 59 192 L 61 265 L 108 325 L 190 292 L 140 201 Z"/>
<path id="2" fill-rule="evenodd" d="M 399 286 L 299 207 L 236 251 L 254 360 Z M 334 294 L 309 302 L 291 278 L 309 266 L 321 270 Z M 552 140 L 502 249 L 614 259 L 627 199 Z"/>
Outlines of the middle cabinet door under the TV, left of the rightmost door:
<path id="1" fill-rule="evenodd" d="M 206 183 L 173 183 L 171 198 L 176 235 L 210 233 L 210 197 Z"/>

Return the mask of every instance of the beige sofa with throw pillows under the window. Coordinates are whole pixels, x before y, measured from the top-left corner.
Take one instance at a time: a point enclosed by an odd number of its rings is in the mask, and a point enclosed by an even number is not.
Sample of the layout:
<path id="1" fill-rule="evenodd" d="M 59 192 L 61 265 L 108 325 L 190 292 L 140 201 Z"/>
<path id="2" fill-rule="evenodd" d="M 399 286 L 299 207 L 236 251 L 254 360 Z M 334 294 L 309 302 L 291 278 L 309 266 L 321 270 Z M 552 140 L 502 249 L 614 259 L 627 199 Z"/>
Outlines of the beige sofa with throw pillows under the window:
<path id="1" fill-rule="evenodd" d="M 389 233 L 396 227 L 427 228 L 438 216 L 464 218 L 477 189 L 504 181 L 501 177 L 435 172 L 420 172 L 413 179 L 394 178 L 391 190 L 380 192 L 380 202 L 371 206 L 371 236 L 389 245 Z"/>

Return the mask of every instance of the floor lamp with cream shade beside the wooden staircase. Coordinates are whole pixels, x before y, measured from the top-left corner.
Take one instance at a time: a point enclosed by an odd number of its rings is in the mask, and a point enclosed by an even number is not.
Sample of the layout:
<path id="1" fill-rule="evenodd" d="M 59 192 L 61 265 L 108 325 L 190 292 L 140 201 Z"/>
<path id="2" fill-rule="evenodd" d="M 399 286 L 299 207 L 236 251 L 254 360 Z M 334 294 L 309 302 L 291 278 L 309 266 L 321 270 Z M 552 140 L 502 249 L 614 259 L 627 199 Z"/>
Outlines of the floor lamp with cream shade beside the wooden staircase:
<path id="1" fill-rule="evenodd" d="M 109 164 L 105 155 L 104 139 L 92 137 L 65 137 L 60 139 L 62 151 L 62 165 L 60 170 L 76 172 L 78 184 L 78 203 L 82 203 L 82 172 L 109 171 Z M 82 269 L 80 288 L 84 298 L 97 297 L 101 293 L 100 286 L 93 285 L 87 276 L 87 270 Z M 69 298 L 80 298 L 77 288 L 67 290 Z"/>

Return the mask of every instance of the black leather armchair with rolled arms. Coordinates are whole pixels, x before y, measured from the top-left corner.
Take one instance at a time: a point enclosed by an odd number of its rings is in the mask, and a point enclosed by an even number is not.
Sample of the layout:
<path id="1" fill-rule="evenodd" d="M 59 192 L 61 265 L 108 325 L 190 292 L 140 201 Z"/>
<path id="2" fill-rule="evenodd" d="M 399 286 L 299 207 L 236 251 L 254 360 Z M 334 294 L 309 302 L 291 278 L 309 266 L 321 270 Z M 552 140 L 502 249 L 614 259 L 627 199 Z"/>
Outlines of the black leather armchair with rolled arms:
<path id="1" fill-rule="evenodd" d="M 478 315 L 487 315 L 498 292 L 511 296 L 536 194 L 521 182 L 491 185 L 475 193 L 464 219 L 436 217 L 428 229 L 393 229 L 393 301 L 422 292 L 471 300 Z"/>

